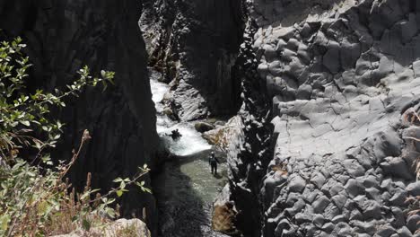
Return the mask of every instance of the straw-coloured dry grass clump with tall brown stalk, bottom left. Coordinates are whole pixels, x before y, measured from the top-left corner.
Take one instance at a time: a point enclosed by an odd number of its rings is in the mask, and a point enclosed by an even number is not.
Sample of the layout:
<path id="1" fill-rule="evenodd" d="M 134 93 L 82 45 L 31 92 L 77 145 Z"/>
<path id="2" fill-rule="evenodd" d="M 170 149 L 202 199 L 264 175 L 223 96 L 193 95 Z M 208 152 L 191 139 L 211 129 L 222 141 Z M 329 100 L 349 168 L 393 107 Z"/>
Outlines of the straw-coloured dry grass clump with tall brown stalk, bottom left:
<path id="1" fill-rule="evenodd" d="M 21 197 L 21 189 L 16 189 L 12 197 L 22 202 L 19 210 L 11 214 L 10 227 L 6 236 L 39 236 L 40 235 L 57 235 L 71 233 L 78 229 L 89 229 L 91 226 L 99 226 L 109 222 L 106 215 L 95 212 L 96 208 L 101 206 L 101 195 L 97 193 L 95 198 L 91 195 L 95 190 L 91 188 L 91 174 L 87 175 L 87 181 L 82 194 L 78 194 L 72 189 L 68 180 L 62 181 L 66 173 L 70 170 L 74 162 L 77 160 L 83 145 L 91 137 L 85 131 L 83 133 L 82 142 L 74 152 L 72 160 L 66 165 L 58 167 L 58 172 L 51 172 L 43 176 L 33 172 L 28 177 L 22 176 L 23 179 L 32 180 L 29 187 L 23 191 L 29 191 L 28 195 Z M 19 184 L 21 180 L 16 180 Z M 68 192 L 68 190 L 72 190 Z M 5 201 L 5 200 L 4 200 Z M 6 213 L 11 208 L 10 203 L 2 201 L 0 209 Z M 103 210 L 107 210 L 105 206 Z M 8 209 L 9 208 L 9 209 Z M 118 213 L 118 212 L 117 212 Z M 88 235 L 91 236 L 91 235 Z"/>

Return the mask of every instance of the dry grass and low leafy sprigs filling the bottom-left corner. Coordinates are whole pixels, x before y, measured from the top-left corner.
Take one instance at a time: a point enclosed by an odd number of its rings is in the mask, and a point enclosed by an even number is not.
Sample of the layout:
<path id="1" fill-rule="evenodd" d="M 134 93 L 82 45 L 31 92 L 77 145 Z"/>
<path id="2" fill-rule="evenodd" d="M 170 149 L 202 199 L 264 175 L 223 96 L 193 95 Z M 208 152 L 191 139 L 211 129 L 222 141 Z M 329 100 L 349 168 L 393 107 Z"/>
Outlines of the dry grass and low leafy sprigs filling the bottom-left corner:
<path id="1" fill-rule="evenodd" d="M 0 170 L 2 188 L 7 189 L 5 192 L 0 190 L 0 227 L 4 236 L 51 236 L 74 232 L 82 236 L 104 236 L 101 230 L 119 216 L 119 206 L 110 207 L 115 201 L 113 197 L 119 197 L 127 191 L 125 187 L 135 183 L 146 189 L 143 182 L 137 181 L 148 171 L 146 166 L 139 168 L 133 180 L 115 180 L 119 187 L 102 196 L 99 189 L 91 187 L 91 173 L 87 174 L 81 193 L 77 193 L 68 180 L 63 181 L 89 139 L 91 136 L 86 130 L 72 160 L 57 166 L 57 171 L 41 174 L 39 167 L 25 162 L 22 162 L 23 168 L 13 166 L 17 168 Z M 121 232 L 126 235 L 117 233 L 116 236 L 136 236 L 127 235 L 132 229 L 124 228 Z"/>

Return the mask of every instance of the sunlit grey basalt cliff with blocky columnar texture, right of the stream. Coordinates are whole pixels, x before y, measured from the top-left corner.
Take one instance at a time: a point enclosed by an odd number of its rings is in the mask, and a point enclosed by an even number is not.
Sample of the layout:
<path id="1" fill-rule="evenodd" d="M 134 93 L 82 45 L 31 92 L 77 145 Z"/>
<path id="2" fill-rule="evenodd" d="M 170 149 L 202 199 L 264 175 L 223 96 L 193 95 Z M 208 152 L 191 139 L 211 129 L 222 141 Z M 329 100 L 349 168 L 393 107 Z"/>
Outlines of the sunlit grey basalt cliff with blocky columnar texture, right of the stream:
<path id="1" fill-rule="evenodd" d="M 273 130 L 246 93 L 230 160 L 239 213 L 258 198 L 264 236 L 412 236 L 420 4 L 255 0 L 250 12 L 256 33 L 241 55 L 257 60 Z M 272 143 L 258 148 L 264 135 Z"/>

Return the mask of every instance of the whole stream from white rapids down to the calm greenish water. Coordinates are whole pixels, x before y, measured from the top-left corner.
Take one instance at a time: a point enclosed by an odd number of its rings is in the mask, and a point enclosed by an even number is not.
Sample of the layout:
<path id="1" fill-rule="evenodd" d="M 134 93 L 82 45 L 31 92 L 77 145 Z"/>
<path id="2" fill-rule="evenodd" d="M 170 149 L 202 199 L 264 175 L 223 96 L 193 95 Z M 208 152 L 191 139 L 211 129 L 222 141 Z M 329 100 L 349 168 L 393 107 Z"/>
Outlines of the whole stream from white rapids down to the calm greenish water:
<path id="1" fill-rule="evenodd" d="M 158 200 L 161 237 L 226 236 L 211 228 L 213 202 L 227 180 L 224 159 L 218 175 L 210 173 L 207 157 L 212 151 L 193 122 L 175 122 L 164 115 L 161 103 L 169 85 L 158 82 L 161 75 L 150 70 L 156 127 L 166 149 L 173 154 L 154 179 L 154 195 Z M 179 140 L 172 140 L 171 131 L 179 129 Z"/>

